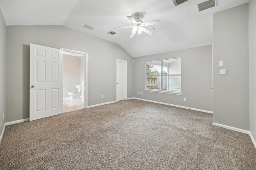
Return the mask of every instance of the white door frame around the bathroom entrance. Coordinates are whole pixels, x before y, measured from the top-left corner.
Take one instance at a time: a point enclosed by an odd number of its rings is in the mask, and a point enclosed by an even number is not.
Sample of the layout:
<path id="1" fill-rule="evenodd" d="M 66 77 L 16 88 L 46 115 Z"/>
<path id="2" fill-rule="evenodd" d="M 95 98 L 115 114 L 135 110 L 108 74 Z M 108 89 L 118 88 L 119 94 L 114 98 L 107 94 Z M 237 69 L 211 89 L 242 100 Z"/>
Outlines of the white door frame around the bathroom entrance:
<path id="1" fill-rule="evenodd" d="M 71 53 L 77 53 L 77 54 L 82 54 L 82 55 L 85 55 L 85 82 L 84 82 L 84 85 L 85 85 L 85 88 L 84 88 L 84 108 L 88 108 L 88 53 L 84 53 L 84 52 L 81 52 L 81 51 L 75 51 L 75 50 L 70 50 L 70 49 L 65 49 L 65 48 L 60 48 L 61 50 L 63 51 L 66 51 L 66 52 L 71 52 Z"/>

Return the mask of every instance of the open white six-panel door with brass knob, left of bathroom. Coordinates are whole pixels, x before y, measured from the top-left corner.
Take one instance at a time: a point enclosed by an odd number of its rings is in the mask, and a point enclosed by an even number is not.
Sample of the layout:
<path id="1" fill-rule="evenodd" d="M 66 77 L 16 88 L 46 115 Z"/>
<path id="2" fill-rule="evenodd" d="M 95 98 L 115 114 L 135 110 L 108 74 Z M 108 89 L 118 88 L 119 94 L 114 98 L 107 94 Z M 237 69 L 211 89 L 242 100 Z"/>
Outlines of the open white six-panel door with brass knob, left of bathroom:
<path id="1" fill-rule="evenodd" d="M 62 62 L 62 50 L 30 44 L 30 121 L 62 113 Z"/>

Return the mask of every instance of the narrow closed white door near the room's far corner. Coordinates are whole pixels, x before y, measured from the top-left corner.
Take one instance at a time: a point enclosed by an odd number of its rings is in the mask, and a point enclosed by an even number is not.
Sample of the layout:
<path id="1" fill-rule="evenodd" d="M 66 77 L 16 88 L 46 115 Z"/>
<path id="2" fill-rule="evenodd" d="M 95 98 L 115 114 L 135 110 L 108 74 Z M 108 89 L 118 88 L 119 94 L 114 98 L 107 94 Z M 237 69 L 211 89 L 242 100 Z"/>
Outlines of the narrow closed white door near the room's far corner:
<path id="1" fill-rule="evenodd" d="M 127 92 L 127 61 L 117 60 L 116 61 L 116 100 L 126 99 Z"/>

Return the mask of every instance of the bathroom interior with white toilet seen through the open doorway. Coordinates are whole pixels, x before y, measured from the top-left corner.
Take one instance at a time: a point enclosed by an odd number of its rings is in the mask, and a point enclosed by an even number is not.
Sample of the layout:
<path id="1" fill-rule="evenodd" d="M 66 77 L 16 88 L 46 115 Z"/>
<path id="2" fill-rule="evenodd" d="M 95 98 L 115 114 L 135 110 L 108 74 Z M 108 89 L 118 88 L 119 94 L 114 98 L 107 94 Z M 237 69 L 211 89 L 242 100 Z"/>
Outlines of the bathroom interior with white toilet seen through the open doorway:
<path id="1" fill-rule="evenodd" d="M 83 109 L 85 55 L 63 51 L 63 113 Z"/>

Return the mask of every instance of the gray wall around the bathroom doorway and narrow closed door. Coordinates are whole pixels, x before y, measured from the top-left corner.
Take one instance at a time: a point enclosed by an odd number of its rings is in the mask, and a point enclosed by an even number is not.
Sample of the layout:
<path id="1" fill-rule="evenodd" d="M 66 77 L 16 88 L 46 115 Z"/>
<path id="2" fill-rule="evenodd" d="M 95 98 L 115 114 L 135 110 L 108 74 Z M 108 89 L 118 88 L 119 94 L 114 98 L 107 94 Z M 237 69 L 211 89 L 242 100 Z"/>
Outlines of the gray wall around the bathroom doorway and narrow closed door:
<path id="1" fill-rule="evenodd" d="M 7 122 L 29 117 L 30 43 L 88 53 L 88 106 L 116 100 L 116 59 L 128 61 L 133 97 L 133 58 L 119 45 L 63 26 L 7 26 Z"/>

